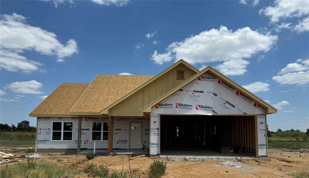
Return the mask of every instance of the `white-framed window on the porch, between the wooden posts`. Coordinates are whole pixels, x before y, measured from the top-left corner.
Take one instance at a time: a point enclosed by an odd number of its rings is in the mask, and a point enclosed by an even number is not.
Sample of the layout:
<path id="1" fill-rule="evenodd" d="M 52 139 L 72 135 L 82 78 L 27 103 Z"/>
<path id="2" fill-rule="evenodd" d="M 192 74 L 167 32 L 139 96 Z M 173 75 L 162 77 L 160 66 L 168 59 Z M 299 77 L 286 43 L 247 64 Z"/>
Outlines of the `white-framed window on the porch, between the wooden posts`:
<path id="1" fill-rule="evenodd" d="M 91 140 L 108 140 L 108 122 L 92 122 Z"/>

